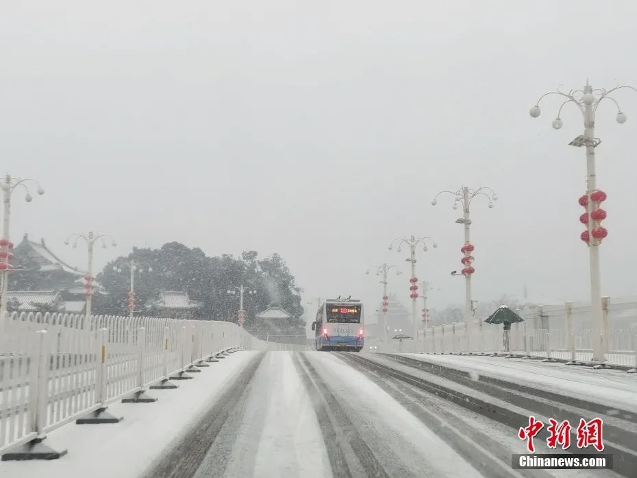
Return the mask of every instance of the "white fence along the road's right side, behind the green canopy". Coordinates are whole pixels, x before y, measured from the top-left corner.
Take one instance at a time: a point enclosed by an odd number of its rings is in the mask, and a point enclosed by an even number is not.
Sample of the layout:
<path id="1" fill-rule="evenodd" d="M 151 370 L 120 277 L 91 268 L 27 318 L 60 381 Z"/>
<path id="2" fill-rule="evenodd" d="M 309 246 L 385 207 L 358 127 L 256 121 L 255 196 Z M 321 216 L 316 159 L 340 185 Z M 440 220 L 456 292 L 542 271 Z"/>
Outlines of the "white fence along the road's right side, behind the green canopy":
<path id="1" fill-rule="evenodd" d="M 517 311 L 525 320 L 503 326 L 473 322 L 471 337 L 464 322 L 419 331 L 416 340 L 392 340 L 379 351 L 424 353 L 511 353 L 524 357 L 592 361 L 597 341 L 605 363 L 637 368 L 637 302 L 603 298 L 604 330 L 592 329 L 590 307 L 566 302 L 563 306 L 540 306 Z"/>

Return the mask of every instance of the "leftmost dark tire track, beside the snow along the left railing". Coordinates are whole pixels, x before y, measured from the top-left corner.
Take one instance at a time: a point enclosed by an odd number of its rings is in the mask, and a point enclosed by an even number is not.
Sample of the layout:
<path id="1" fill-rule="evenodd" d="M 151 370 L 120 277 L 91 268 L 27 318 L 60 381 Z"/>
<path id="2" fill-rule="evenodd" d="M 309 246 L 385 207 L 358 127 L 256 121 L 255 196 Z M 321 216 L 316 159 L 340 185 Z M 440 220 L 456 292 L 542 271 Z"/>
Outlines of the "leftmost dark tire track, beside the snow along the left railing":
<path id="1" fill-rule="evenodd" d="M 251 390 L 251 381 L 265 353 L 256 355 L 240 372 L 236 380 L 227 390 L 218 396 L 215 404 L 201 417 L 197 425 L 179 440 L 158 462 L 153 464 L 144 478 L 192 478 L 201 462 L 207 455 L 210 447 L 218 438 L 229 416 L 242 412 L 242 404 L 245 403 Z M 207 473 L 207 477 L 222 476 L 225 472 L 225 464 L 230 456 L 234 440 L 224 440 L 227 446 L 227 454 L 220 455 L 215 462 L 213 470 Z"/>

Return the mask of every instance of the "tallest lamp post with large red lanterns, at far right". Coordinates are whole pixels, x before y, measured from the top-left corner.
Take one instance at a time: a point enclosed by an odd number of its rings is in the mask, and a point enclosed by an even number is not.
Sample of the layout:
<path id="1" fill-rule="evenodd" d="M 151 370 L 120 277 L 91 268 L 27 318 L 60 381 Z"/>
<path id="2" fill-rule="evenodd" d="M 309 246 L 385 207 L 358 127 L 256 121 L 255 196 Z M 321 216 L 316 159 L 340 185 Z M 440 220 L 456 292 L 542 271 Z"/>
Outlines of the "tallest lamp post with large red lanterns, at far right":
<path id="1" fill-rule="evenodd" d="M 601 139 L 595 138 L 595 113 L 597 107 L 604 99 L 610 99 L 617 107 L 617 115 L 615 117 L 618 123 L 625 123 L 626 115 L 621 111 L 619 103 L 610 96 L 614 91 L 622 88 L 629 88 L 637 91 L 632 86 L 616 86 L 610 90 L 593 89 L 588 81 L 582 90 L 569 91 L 562 93 L 561 91 L 553 91 L 545 93 L 538 99 L 535 106 L 529 110 L 529 114 L 537 118 L 540 116 L 540 101 L 548 95 L 560 95 L 566 98 L 558 110 L 558 116 L 553 120 L 553 128 L 559 130 L 562 128 L 562 119 L 560 113 L 564 105 L 574 103 L 582 112 L 584 118 L 584 134 L 577 136 L 569 145 L 582 147 L 586 146 L 586 194 L 579 198 L 579 205 L 586 208 L 586 213 L 579 217 L 579 221 L 586 225 L 586 230 L 580 235 L 580 239 L 588 246 L 588 258 L 590 263 L 590 309 L 592 320 L 595 324 L 595 334 L 598 339 L 593 340 L 593 361 L 605 361 L 605 324 L 603 321 L 603 312 L 601 305 L 601 280 L 599 272 L 599 246 L 601 241 L 608 235 L 608 230 L 601 226 L 601 221 L 606 218 L 606 211 L 600 208 L 601 203 L 606 199 L 606 193 L 597 189 L 595 181 L 595 147 L 601 143 Z"/>

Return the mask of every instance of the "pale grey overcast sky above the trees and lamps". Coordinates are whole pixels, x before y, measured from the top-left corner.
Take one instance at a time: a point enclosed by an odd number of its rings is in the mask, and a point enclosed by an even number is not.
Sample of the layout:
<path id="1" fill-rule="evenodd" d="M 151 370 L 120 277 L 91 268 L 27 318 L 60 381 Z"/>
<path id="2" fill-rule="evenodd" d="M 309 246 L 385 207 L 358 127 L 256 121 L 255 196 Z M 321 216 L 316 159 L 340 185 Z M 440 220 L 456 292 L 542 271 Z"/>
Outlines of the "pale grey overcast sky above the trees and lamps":
<path id="1" fill-rule="evenodd" d="M 524 5 L 524 6 L 521 6 Z M 432 236 L 417 275 L 430 307 L 464 300 L 462 226 L 472 208 L 476 300 L 588 298 L 577 198 L 582 117 L 542 93 L 637 86 L 637 4 L 578 1 L 4 1 L 0 165 L 45 196 L 12 207 L 12 240 L 45 237 L 84 267 L 70 232 L 108 233 L 101 267 L 133 246 L 179 241 L 208 255 L 279 252 L 305 294 L 382 295 L 369 265 L 405 274 L 391 239 Z M 561 85 L 561 86 L 560 86 Z M 608 193 L 603 294 L 636 294 L 637 94 L 597 112 Z M 125 280 L 123 278 L 123 280 Z"/>

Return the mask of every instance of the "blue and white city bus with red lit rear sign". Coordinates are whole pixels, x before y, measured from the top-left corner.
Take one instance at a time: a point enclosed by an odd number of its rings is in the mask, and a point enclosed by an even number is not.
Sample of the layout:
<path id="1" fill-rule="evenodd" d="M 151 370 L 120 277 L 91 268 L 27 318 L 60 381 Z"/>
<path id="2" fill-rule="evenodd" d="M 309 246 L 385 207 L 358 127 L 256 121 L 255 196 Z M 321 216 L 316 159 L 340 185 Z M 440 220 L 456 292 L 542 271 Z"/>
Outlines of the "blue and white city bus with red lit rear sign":
<path id="1" fill-rule="evenodd" d="M 363 304 L 347 298 L 327 299 L 316 311 L 312 322 L 315 350 L 349 350 L 363 348 Z"/>

